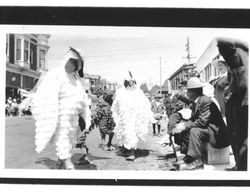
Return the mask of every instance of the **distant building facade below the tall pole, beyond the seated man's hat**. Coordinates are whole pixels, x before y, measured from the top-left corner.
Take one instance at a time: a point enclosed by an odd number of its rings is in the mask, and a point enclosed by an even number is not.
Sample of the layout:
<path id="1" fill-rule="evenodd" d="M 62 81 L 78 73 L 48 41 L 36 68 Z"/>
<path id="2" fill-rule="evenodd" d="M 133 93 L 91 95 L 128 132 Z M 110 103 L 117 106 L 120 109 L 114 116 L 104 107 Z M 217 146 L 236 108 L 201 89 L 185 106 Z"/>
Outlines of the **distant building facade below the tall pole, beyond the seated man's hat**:
<path id="1" fill-rule="evenodd" d="M 183 64 L 179 69 L 177 69 L 170 77 L 170 88 L 169 93 L 173 93 L 179 90 L 180 84 L 187 81 L 187 75 L 194 71 L 196 66 L 193 63 Z"/>

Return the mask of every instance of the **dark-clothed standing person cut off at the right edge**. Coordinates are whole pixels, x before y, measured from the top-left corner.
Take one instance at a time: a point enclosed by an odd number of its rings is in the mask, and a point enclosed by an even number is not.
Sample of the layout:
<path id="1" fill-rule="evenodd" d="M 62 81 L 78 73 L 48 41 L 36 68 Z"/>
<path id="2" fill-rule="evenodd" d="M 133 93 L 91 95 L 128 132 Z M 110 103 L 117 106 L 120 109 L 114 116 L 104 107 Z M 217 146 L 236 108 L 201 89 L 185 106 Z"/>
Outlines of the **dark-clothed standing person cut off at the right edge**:
<path id="1" fill-rule="evenodd" d="M 248 139 L 248 44 L 228 38 L 217 38 L 219 53 L 229 66 L 229 97 L 225 104 L 227 126 L 235 158 L 235 167 L 247 170 Z"/>

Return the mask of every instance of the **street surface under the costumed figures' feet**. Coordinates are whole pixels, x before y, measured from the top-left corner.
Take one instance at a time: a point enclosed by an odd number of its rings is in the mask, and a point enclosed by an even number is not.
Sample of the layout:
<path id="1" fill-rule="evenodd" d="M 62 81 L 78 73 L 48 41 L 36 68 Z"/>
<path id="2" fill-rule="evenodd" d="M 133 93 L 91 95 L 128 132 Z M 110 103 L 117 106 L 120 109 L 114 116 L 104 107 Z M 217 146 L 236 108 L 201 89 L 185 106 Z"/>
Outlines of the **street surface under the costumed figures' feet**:
<path id="1" fill-rule="evenodd" d="M 163 131 L 162 133 L 165 133 Z M 56 169 L 57 156 L 54 145 L 48 144 L 40 154 L 35 152 L 35 126 L 31 116 L 6 117 L 5 119 L 5 168 L 6 169 Z M 101 142 L 98 129 L 93 129 L 86 144 L 89 148 L 89 164 L 75 165 L 79 170 L 170 170 L 174 159 L 165 159 L 167 153 L 171 153 L 171 147 L 161 147 L 156 143 L 162 137 L 148 135 L 142 149 L 137 150 L 137 158 L 127 161 L 126 153 L 121 152 L 116 138 L 113 145 L 115 150 L 106 151 Z M 80 149 L 74 149 L 72 161 L 76 162 L 82 156 Z M 178 154 L 178 158 L 183 157 Z M 233 156 L 230 164 L 205 165 L 205 170 L 223 170 L 234 165 Z"/>

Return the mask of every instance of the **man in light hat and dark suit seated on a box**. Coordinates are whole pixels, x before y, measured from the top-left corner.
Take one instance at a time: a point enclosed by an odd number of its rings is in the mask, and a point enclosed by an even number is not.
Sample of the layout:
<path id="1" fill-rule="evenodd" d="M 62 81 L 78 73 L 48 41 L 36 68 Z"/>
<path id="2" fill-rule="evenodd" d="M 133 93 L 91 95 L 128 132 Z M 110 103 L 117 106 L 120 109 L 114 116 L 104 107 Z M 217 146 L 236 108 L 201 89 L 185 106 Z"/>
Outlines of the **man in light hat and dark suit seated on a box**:
<path id="1" fill-rule="evenodd" d="M 185 170 L 203 167 L 203 142 L 210 142 L 216 148 L 228 146 L 222 115 L 213 100 L 203 94 L 203 86 L 197 77 L 188 80 L 187 96 L 194 104 L 192 116 L 188 122 L 177 124 L 172 131 L 180 134 L 181 151 L 186 156 L 177 164 Z"/>

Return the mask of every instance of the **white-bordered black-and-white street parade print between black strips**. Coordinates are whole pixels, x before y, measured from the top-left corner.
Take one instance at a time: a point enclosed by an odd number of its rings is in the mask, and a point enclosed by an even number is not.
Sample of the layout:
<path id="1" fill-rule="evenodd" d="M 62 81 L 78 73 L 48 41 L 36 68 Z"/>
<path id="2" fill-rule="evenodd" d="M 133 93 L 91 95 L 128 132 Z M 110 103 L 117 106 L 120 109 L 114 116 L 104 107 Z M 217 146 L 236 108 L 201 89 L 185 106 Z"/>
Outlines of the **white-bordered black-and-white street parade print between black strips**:
<path id="1" fill-rule="evenodd" d="M 2 25 L 1 176 L 248 180 L 249 32 Z"/>

